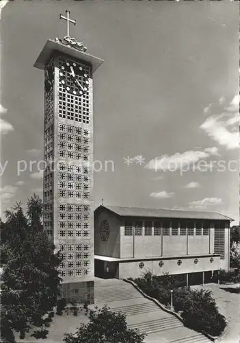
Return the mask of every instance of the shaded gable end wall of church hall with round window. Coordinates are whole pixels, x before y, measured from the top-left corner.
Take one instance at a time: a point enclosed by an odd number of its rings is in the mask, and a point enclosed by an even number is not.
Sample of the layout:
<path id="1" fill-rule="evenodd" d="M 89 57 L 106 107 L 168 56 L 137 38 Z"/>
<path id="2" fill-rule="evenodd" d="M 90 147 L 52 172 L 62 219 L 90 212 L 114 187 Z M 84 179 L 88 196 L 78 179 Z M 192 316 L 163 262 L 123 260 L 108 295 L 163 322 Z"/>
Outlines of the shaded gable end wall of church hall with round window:
<path id="1" fill-rule="evenodd" d="M 109 237 L 101 239 L 101 223 L 107 221 L 109 225 Z M 122 221 L 117 215 L 110 211 L 101 210 L 95 213 L 94 217 L 94 246 L 95 255 L 120 257 L 120 225 Z"/>

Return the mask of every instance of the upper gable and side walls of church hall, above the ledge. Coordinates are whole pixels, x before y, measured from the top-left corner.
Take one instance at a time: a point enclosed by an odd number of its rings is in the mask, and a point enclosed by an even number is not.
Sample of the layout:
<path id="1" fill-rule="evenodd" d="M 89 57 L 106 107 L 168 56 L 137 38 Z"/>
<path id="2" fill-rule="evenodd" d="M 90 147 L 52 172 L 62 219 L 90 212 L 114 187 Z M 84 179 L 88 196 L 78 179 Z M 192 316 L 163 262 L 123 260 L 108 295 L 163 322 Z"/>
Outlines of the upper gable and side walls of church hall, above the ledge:
<path id="1" fill-rule="evenodd" d="M 103 220 L 107 220 L 110 226 L 110 235 L 106 241 L 103 241 L 98 233 L 99 225 Z M 142 233 L 136 234 L 135 223 L 141 220 Z M 145 221 L 152 220 L 151 235 L 145 234 Z M 164 220 L 164 218 L 163 218 Z M 161 227 L 161 233 L 155 233 L 154 230 L 154 218 L 123 218 L 120 217 L 108 209 L 99 209 L 95 215 L 95 255 L 102 255 L 107 257 L 117 257 L 121 259 L 144 259 L 150 257 L 175 257 L 175 256 L 187 256 L 187 255 L 207 255 L 207 254 L 219 254 L 216 251 L 216 228 L 222 226 L 225 232 L 225 238 L 221 244 L 224 244 L 224 255 L 221 256 L 219 261 L 219 268 L 228 269 L 229 265 L 229 237 L 228 227 L 229 223 L 223 221 L 209 221 L 202 223 L 202 220 L 195 220 L 193 231 L 190 234 L 188 230 L 181 235 L 181 223 L 184 220 L 179 220 L 179 227 L 177 229 L 177 235 L 174 235 L 174 230 L 170 225 L 169 234 L 164 234 L 164 228 Z M 133 223 L 133 227 L 129 227 L 129 223 Z M 129 227 L 129 232 L 125 232 Z M 207 225 L 206 225 L 207 224 Z M 139 226 L 137 226 L 138 228 Z M 183 225 L 182 225 L 183 227 Z M 187 224 L 186 224 L 187 227 Z M 201 234 L 197 234 L 197 228 L 199 228 Z M 204 228 L 209 227 L 209 230 L 204 233 Z M 191 228 L 191 226 L 190 226 Z M 133 235 L 135 233 L 135 235 Z M 176 233 L 176 230 L 175 230 Z M 217 246 L 218 247 L 218 246 Z M 222 245 L 221 248 L 222 249 Z M 223 251 L 223 250 L 221 250 Z M 150 262 L 148 261 L 148 264 Z M 194 265 L 194 267 L 196 267 Z M 124 267 L 122 267 L 124 268 Z M 151 267 L 152 268 L 152 267 Z M 183 268 L 183 266 L 181 267 Z M 198 269 L 198 268 L 197 268 Z M 201 269 L 201 268 L 200 268 Z M 177 273 L 178 269 L 174 270 Z M 197 272 L 198 270 L 196 270 Z M 119 270 L 120 272 L 120 270 Z M 189 271 L 190 272 L 190 271 Z M 182 273 L 181 271 L 179 273 Z M 184 273 L 184 272 L 183 272 Z"/>

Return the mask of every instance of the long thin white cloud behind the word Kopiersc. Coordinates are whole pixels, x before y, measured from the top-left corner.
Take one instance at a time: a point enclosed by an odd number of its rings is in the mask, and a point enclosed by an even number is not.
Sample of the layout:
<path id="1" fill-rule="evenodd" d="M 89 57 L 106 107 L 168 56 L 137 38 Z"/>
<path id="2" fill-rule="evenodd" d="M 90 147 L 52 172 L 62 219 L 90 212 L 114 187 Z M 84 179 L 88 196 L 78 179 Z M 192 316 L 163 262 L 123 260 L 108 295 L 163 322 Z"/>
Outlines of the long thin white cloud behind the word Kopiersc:
<path id="1" fill-rule="evenodd" d="M 217 154 L 216 147 L 207 147 L 205 150 L 188 150 L 186 152 L 180 153 L 176 152 L 174 155 L 162 155 L 159 158 L 154 158 L 145 167 L 148 169 L 155 170 L 170 170 L 176 171 L 184 166 L 191 165 L 192 163 L 197 163 L 199 160 L 208 158 L 211 154 Z"/>

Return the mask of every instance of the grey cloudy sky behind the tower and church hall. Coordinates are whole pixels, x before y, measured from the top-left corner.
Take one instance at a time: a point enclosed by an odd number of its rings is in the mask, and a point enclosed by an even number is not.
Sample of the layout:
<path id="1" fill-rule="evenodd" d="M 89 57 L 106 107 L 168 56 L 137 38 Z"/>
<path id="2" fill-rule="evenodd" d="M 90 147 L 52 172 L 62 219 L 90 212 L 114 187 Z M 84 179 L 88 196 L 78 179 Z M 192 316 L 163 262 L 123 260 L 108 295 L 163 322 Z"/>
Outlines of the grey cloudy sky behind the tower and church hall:
<path id="1" fill-rule="evenodd" d="M 94 200 L 217 211 L 239 223 L 239 4 L 9 1 L 1 11 L 1 213 L 42 196 L 48 38 L 105 62 L 94 73 Z M 19 162 L 25 161 L 25 162 Z M 107 163 L 105 161 L 112 161 Z M 18 164 L 25 171 L 18 171 Z M 114 166 L 114 167 L 113 167 Z"/>

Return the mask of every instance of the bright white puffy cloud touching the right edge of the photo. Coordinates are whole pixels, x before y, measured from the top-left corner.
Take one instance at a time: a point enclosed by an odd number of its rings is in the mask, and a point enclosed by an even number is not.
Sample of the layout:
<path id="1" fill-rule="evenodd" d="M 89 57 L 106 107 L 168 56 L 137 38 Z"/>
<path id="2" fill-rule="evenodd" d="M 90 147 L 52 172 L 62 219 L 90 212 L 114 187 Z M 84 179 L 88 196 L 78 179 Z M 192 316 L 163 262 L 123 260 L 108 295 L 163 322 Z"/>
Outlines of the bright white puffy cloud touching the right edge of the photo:
<path id="1" fill-rule="evenodd" d="M 227 127 L 229 125 L 229 118 L 224 121 L 222 115 L 213 115 L 208 117 L 200 128 L 204 130 L 211 139 L 217 141 L 219 145 L 224 145 L 228 150 L 236 149 L 239 147 L 239 132 L 235 129 L 233 132 L 228 130 Z"/>

